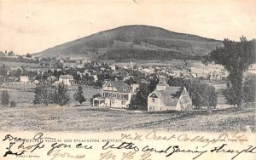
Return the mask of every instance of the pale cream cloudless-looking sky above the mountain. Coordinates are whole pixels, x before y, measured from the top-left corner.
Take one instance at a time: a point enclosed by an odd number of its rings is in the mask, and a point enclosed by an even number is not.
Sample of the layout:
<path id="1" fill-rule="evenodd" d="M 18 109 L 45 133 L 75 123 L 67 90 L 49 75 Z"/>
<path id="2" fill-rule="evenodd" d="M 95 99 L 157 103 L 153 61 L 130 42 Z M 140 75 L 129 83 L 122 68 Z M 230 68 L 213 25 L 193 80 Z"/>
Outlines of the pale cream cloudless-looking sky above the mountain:
<path id="1" fill-rule="evenodd" d="M 35 53 L 125 25 L 252 39 L 255 20 L 256 0 L 0 0 L 0 50 Z"/>

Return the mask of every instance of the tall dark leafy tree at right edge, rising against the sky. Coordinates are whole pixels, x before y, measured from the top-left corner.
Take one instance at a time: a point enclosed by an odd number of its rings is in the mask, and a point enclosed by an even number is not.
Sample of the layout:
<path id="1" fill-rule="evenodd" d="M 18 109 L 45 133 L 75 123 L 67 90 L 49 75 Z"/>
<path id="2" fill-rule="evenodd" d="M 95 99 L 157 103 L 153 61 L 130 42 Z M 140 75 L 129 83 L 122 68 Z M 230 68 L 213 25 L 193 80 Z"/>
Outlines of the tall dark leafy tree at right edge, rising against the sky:
<path id="1" fill-rule="evenodd" d="M 243 73 L 255 61 L 256 40 L 241 37 L 240 42 L 224 39 L 223 43 L 224 47 L 213 50 L 203 62 L 222 65 L 229 71 L 230 85 L 224 90 L 224 96 L 231 105 L 241 106 Z"/>

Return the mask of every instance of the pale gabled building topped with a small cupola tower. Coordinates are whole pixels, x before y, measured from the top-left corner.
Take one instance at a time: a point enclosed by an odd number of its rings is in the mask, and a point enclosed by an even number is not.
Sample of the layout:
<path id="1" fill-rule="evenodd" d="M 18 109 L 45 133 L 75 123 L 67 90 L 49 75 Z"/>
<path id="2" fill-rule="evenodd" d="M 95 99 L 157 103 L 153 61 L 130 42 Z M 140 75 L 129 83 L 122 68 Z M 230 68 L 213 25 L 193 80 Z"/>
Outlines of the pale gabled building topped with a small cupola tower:
<path id="1" fill-rule="evenodd" d="M 165 77 L 160 77 L 156 89 L 148 95 L 148 111 L 191 111 L 192 100 L 187 89 L 169 86 Z"/>

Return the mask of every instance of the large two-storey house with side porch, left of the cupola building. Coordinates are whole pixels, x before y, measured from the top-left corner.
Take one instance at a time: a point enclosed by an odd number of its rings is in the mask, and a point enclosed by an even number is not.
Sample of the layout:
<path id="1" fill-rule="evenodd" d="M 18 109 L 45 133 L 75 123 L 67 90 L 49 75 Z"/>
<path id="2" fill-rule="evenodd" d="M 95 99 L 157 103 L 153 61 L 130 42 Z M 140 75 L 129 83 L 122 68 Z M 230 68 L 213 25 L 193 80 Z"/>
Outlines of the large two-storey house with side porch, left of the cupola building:
<path id="1" fill-rule="evenodd" d="M 102 88 L 102 98 L 95 98 L 93 100 L 93 106 L 115 107 L 115 108 L 127 108 L 131 101 L 132 92 L 131 86 L 122 81 L 110 81 L 105 83 Z"/>

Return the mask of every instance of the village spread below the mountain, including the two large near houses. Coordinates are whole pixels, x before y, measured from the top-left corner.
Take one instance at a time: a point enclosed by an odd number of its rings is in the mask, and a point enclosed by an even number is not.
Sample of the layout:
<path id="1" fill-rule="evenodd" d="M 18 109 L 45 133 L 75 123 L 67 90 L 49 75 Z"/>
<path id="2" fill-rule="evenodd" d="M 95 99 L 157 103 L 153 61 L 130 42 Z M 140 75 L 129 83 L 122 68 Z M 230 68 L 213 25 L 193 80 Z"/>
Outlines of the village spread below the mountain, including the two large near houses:
<path id="1" fill-rule="evenodd" d="M 142 63 L 137 60 L 110 63 L 90 60 L 71 60 L 70 58 L 38 58 L 30 54 L 16 56 L 13 52 L 1 52 L 1 60 L 15 63 L 1 65 L 1 90 L 8 90 L 9 106 L 33 106 L 36 86 L 47 81 L 52 86 L 63 83 L 67 86 L 70 98 L 66 106 L 91 106 L 128 109 L 131 97 L 137 94 L 141 83 L 158 83 L 148 96 L 147 111 L 191 111 L 191 98 L 186 88 L 176 97 L 182 83 L 177 81 L 189 79 L 215 85 L 225 86 L 227 72 L 221 66 L 195 67 L 200 61 L 193 60 L 155 60 Z M 20 66 L 19 64 L 35 66 Z M 193 66 L 193 64 L 196 65 Z M 170 81 L 175 79 L 175 81 Z M 84 100 L 74 100 L 79 86 L 83 86 Z M 218 93 L 217 93 L 218 94 Z M 96 95 L 96 96 L 95 96 Z M 218 94 L 219 107 L 225 107 L 223 95 Z M 41 104 L 43 105 L 43 104 Z M 48 105 L 48 104 L 47 104 Z M 223 105 L 223 106 L 221 106 Z M 145 109 L 145 108 L 144 108 Z"/>

